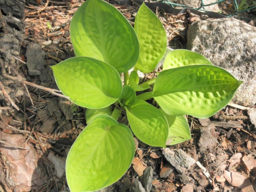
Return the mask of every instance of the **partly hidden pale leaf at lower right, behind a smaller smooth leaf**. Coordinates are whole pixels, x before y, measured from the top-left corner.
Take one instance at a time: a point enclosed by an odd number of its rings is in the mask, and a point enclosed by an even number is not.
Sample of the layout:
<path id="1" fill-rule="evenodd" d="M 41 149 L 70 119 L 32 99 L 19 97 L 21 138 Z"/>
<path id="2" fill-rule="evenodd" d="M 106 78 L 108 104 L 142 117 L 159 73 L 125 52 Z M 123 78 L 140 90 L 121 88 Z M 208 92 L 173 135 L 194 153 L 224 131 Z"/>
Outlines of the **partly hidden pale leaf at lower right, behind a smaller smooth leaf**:
<path id="1" fill-rule="evenodd" d="M 191 139 L 189 125 L 184 116 L 170 116 L 164 113 L 163 110 L 160 109 L 160 111 L 166 117 L 169 125 L 166 145 L 175 145 Z"/>

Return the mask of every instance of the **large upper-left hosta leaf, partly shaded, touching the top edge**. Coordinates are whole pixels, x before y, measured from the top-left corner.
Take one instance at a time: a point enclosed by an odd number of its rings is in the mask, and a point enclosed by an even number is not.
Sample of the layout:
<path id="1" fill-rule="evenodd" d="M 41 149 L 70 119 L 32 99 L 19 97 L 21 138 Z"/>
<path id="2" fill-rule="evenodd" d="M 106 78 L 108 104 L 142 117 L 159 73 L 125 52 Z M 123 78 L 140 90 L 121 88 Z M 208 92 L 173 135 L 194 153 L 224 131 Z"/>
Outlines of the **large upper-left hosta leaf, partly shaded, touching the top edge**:
<path id="1" fill-rule="evenodd" d="M 76 56 L 105 61 L 121 73 L 138 60 L 139 42 L 127 19 L 102 0 L 87 0 L 75 12 L 70 35 Z"/>

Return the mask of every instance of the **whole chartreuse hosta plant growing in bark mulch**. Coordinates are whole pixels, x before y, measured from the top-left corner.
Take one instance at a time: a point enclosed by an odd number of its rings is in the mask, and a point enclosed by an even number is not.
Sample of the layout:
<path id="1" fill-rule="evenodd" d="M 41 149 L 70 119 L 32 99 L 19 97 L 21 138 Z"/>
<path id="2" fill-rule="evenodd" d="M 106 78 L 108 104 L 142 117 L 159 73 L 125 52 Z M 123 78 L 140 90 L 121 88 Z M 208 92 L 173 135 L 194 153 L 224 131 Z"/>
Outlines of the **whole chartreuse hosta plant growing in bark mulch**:
<path id="1" fill-rule="evenodd" d="M 184 115 L 214 115 L 241 84 L 202 55 L 187 50 L 168 53 L 162 72 L 139 84 L 138 70 L 154 71 L 167 46 L 160 20 L 145 4 L 133 28 L 112 5 L 87 0 L 74 14 L 70 29 L 76 57 L 52 70 L 61 92 L 87 108 L 88 125 L 67 157 L 71 191 L 95 191 L 119 180 L 135 155 L 134 135 L 159 147 L 189 140 Z M 150 98 L 159 107 L 146 102 Z M 120 114 L 127 116 L 128 125 L 118 122 Z"/>

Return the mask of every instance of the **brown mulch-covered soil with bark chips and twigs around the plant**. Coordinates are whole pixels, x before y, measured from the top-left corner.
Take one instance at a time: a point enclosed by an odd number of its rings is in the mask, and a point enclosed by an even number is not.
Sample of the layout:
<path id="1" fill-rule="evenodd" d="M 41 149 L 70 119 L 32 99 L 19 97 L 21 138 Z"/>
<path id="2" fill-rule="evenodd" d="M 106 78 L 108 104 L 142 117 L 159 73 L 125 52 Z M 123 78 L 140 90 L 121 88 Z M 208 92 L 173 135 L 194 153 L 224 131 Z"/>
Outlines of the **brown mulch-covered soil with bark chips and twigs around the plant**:
<path id="1" fill-rule="evenodd" d="M 83 1 L 18 2 L 24 19 L 0 12 L 0 191 L 69 191 L 65 161 L 86 127 L 85 109 L 58 91 L 50 66 L 74 56 L 70 21 Z M 134 24 L 137 4 L 111 3 Z M 173 49 L 185 49 L 188 26 L 203 19 L 154 11 Z M 187 116 L 192 139 L 167 148 L 135 137 L 131 167 L 101 191 L 256 190 L 255 111 L 230 104 L 209 119 Z"/>

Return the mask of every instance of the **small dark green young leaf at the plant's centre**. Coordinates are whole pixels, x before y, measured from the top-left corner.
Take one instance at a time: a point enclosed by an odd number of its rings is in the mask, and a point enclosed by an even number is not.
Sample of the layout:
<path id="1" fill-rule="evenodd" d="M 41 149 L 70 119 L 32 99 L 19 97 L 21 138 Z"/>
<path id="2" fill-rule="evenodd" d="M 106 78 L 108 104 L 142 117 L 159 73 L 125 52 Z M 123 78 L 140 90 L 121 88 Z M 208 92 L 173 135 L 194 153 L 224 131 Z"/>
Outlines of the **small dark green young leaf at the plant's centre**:
<path id="1" fill-rule="evenodd" d="M 124 86 L 122 94 L 118 97 L 118 101 L 121 106 L 126 106 L 130 108 L 136 100 L 136 93 L 130 86 Z"/>

